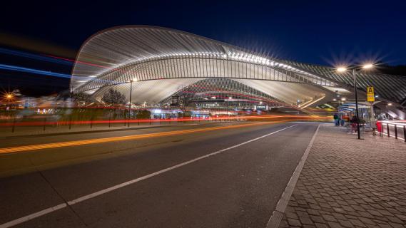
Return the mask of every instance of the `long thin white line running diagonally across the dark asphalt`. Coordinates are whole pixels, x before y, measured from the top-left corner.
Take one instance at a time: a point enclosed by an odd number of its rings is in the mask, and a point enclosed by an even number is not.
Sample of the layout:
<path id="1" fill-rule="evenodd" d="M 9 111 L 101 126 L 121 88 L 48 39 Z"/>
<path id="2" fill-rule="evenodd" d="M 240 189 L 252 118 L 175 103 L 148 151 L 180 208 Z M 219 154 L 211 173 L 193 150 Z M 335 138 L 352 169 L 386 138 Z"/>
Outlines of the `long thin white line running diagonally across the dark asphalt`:
<path id="1" fill-rule="evenodd" d="M 145 176 L 143 176 L 143 177 L 138 177 L 138 178 L 133 179 L 133 180 L 130 180 L 130 181 L 128 181 L 128 182 L 123 182 L 123 183 L 121 183 L 121 184 L 114 185 L 114 186 L 112 186 L 112 187 L 108 187 L 108 188 L 106 188 L 106 189 L 104 189 L 104 190 L 100 190 L 100 191 L 98 191 L 98 192 L 93 192 L 93 193 L 91 193 L 91 194 L 89 194 L 89 195 L 85 195 L 85 196 L 83 196 L 83 197 L 79 197 L 79 198 L 77 198 L 77 199 L 73 199 L 73 200 L 71 200 L 71 201 L 68 201 L 68 204 L 69 204 L 69 205 L 73 205 L 73 204 L 77 204 L 78 202 L 83 202 L 83 201 L 85 201 L 86 199 L 91 199 L 91 198 L 97 197 L 97 196 L 99 196 L 99 195 L 103 195 L 103 194 L 105 194 L 105 193 L 107 193 L 107 192 L 111 192 L 111 191 L 113 191 L 113 190 L 117 190 L 117 189 L 119 189 L 119 188 L 121 188 L 121 187 L 126 187 L 126 186 L 132 185 L 132 184 L 134 184 L 134 183 L 136 183 L 136 182 L 140 182 L 141 180 L 146 180 L 146 179 L 148 179 L 148 178 L 150 178 L 150 177 L 153 177 L 153 176 L 156 176 L 156 175 L 160 175 L 160 174 L 162 174 L 163 172 L 168 172 L 168 171 L 174 170 L 174 169 L 176 169 L 176 168 L 178 168 L 178 167 L 182 167 L 182 166 L 184 166 L 184 165 L 188 165 L 188 164 L 191 164 L 191 163 L 193 163 L 193 162 L 197 162 L 198 160 L 202 160 L 202 159 L 204 159 L 204 158 L 211 157 L 211 156 L 213 156 L 213 155 L 218 155 L 220 152 L 225 152 L 225 151 L 227 151 L 227 150 L 234 149 L 235 147 L 240 147 L 240 146 L 245 145 L 245 144 L 247 144 L 247 143 L 254 142 L 254 141 L 256 141 L 256 140 L 260 140 L 261 138 L 265 138 L 265 137 L 267 137 L 267 136 L 269 136 L 269 135 L 273 135 L 273 134 L 275 134 L 275 133 L 279 133 L 279 132 L 281 132 L 281 131 L 283 131 L 283 130 L 286 130 L 286 129 L 288 129 L 288 128 L 293 128 L 293 127 L 295 127 L 295 126 L 297 126 L 297 124 L 296 124 L 296 125 L 291 125 L 291 126 L 289 126 L 289 127 L 287 127 L 287 128 L 283 128 L 283 129 L 280 129 L 280 130 L 276 130 L 276 131 L 274 131 L 273 133 L 269 133 L 269 134 L 260 136 L 260 137 L 258 137 L 258 138 L 254 138 L 253 140 L 248 140 L 248 141 L 245 141 L 245 142 L 241 142 L 241 143 L 238 144 L 238 145 L 233 145 L 233 146 L 231 146 L 231 147 L 228 147 L 228 148 L 225 148 L 225 149 L 222 149 L 222 150 L 218 150 L 218 151 L 212 152 L 212 153 L 210 153 L 210 154 L 208 154 L 208 155 L 203 155 L 203 156 L 197 157 L 197 158 L 195 158 L 195 159 L 193 159 L 193 160 L 189 160 L 189 161 L 187 161 L 187 162 L 183 162 L 183 163 L 180 163 L 180 164 L 178 164 L 178 165 L 174 165 L 174 166 L 172 166 L 172 167 L 168 167 L 168 168 L 166 168 L 166 169 L 159 170 L 158 172 L 153 172 L 153 173 L 151 173 L 151 174 L 149 174 L 149 175 L 145 175 Z M 12 226 L 15 226 L 16 224 L 20 224 L 20 223 L 23 223 L 23 222 L 27 222 L 27 221 L 29 221 L 29 220 L 31 220 L 31 219 L 36 218 L 36 217 L 41 217 L 41 216 L 43 216 L 43 215 L 45 215 L 45 214 L 49 214 L 49 213 L 51 213 L 51 212 L 55 212 L 56 210 L 62 209 L 62 208 L 64 208 L 64 207 L 66 207 L 66 206 L 67 206 L 67 204 L 64 203 L 64 204 L 56 205 L 55 207 L 49 207 L 49 208 L 43 209 L 43 210 L 41 210 L 41 211 L 39 211 L 39 212 L 36 212 L 36 213 L 33 213 L 33 214 L 29 214 L 29 215 L 24 216 L 24 217 L 21 217 L 21 218 L 19 218 L 19 219 L 14 219 L 14 220 L 12 220 L 12 221 L 10 221 L 10 222 L 6 222 L 6 223 L 4 223 L 4 224 L 1 224 L 1 225 L 0 225 L 0 228 L 12 227 Z"/>

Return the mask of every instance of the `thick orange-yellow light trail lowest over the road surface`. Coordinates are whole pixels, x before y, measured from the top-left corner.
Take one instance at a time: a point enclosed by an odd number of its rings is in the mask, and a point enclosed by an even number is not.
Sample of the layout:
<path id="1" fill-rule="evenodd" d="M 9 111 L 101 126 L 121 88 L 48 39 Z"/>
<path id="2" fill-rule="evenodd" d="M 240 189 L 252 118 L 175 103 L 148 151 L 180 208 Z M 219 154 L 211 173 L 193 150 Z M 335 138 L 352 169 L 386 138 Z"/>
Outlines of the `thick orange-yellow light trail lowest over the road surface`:
<path id="1" fill-rule="evenodd" d="M 270 122 L 270 123 L 282 123 L 280 122 Z M 98 138 L 92 140 L 75 140 L 75 141 L 68 141 L 68 142 L 51 142 L 51 143 L 44 143 L 44 144 L 36 144 L 36 145 L 23 145 L 18 147 L 6 147 L 0 148 L 0 154 L 9 154 L 14 152 L 25 152 L 30 150 L 44 150 L 50 148 L 59 148 L 59 147 L 71 147 L 71 146 L 78 146 L 78 145 L 89 145 L 89 144 L 96 144 L 96 143 L 103 143 L 103 142 L 118 142 L 118 141 L 125 141 L 125 140 L 138 140 L 143 138 L 156 138 L 156 137 L 163 137 L 163 136 L 171 136 L 171 135 L 184 135 L 189 133 L 202 133 L 205 131 L 210 130 L 224 130 L 224 129 L 232 129 L 232 128 L 244 128 L 248 126 L 255 126 L 255 125 L 265 125 L 270 123 L 248 123 L 242 125 L 228 125 L 228 126 L 220 126 L 220 127 L 211 127 L 211 128 L 198 128 L 198 129 L 191 129 L 191 130 L 173 130 L 163 133 L 148 133 L 143 135 L 128 135 L 128 136 L 118 136 L 118 137 L 111 137 L 111 138 Z"/>

